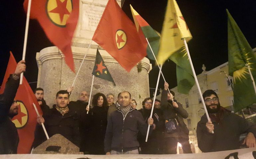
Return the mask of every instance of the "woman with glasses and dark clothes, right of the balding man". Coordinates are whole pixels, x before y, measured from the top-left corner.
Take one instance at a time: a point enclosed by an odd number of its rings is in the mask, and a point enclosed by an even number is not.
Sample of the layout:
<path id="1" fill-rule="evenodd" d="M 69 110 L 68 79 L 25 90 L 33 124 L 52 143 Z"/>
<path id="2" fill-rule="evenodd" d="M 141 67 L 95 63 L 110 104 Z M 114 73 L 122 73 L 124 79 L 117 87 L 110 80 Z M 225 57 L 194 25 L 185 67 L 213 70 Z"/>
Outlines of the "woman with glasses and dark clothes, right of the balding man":
<path id="1" fill-rule="evenodd" d="M 143 108 L 139 112 L 147 123 L 153 105 L 152 98 L 145 98 L 142 105 Z M 154 129 L 151 135 L 149 135 L 148 141 L 145 142 L 146 136 L 139 135 L 141 152 L 142 154 L 163 154 L 158 144 L 158 141 L 161 139 L 158 134 L 161 134 L 164 130 L 164 118 L 158 109 L 153 110 L 152 118 L 154 119 Z"/>

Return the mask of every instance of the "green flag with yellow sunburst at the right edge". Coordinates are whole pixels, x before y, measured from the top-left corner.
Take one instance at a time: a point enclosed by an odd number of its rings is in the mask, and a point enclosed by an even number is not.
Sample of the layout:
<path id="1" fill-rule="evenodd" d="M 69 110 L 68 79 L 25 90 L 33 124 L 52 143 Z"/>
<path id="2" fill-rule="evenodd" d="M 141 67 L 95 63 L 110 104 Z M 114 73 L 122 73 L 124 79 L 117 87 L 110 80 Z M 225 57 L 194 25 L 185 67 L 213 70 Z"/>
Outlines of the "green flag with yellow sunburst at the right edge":
<path id="1" fill-rule="evenodd" d="M 254 80 L 256 79 L 256 57 L 252 48 L 227 11 L 228 28 L 228 72 L 234 78 L 234 111 L 237 112 L 256 102 L 256 94 L 249 74 L 250 66 Z"/>

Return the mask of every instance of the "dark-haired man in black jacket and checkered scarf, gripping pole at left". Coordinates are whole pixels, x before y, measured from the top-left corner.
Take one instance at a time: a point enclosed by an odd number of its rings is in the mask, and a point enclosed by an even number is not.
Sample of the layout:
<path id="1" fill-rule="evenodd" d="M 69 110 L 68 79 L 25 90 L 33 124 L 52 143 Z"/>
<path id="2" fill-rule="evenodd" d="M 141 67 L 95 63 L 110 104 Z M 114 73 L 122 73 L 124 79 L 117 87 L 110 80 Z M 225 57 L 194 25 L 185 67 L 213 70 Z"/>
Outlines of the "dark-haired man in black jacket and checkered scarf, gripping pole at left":
<path id="1" fill-rule="evenodd" d="M 44 118 L 38 116 L 38 123 L 44 123 L 49 137 L 61 134 L 76 146 L 80 146 L 79 117 L 77 112 L 68 108 L 69 94 L 66 90 L 60 90 L 56 94 L 56 104 L 50 109 L 51 113 Z M 38 145 L 46 140 L 44 134 L 37 134 Z M 40 143 L 41 140 L 41 143 Z M 36 145 L 36 146 L 38 146 Z M 35 146 L 35 147 L 36 147 Z"/>

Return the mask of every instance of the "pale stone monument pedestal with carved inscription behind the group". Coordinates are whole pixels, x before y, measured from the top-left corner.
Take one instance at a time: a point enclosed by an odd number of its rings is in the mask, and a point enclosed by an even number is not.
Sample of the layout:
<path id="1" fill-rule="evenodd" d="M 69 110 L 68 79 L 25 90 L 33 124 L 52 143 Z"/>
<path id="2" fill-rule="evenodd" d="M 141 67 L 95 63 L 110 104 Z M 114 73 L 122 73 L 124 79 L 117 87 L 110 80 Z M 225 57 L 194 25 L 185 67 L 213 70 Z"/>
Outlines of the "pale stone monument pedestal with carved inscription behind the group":
<path id="1" fill-rule="evenodd" d="M 75 64 L 75 71 L 79 69 L 84 54 L 91 43 L 92 36 L 105 9 L 108 0 L 79 0 L 79 20 L 72 40 L 72 52 Z M 117 0 L 120 5 L 121 0 Z M 111 27 L 111 26 L 107 26 Z M 92 41 L 85 61 L 74 84 L 70 100 L 76 101 L 78 94 L 82 90 L 90 92 L 92 81 L 92 70 L 94 67 L 96 50 L 98 44 Z M 142 70 L 138 72 L 135 66 L 130 73 L 125 71 L 117 61 L 106 51 L 99 50 L 105 64 L 112 75 L 116 86 L 112 82 L 104 79 L 94 78 L 92 95 L 97 92 L 104 94 L 113 93 L 117 97 L 118 93 L 127 90 L 131 93 L 138 103 L 138 109 L 144 98 L 149 97 L 149 78 L 148 73 L 152 66 L 147 58 L 144 58 L 139 65 Z M 52 107 L 55 104 L 56 93 L 68 86 L 71 86 L 75 74 L 67 67 L 64 62 L 64 55 L 57 47 L 47 47 L 37 53 L 38 63 L 38 83 L 37 87 L 45 90 L 45 100 Z M 138 66 L 138 65 L 137 65 Z M 116 99 L 115 99 L 116 100 Z"/>

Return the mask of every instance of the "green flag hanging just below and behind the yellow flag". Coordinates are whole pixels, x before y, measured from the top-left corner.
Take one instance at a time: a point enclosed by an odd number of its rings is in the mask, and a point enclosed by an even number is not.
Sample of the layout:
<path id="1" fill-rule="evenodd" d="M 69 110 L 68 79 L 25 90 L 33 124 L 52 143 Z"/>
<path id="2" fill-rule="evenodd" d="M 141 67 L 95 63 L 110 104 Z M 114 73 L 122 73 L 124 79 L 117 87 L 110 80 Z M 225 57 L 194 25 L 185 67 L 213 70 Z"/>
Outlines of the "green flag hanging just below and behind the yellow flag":
<path id="1" fill-rule="evenodd" d="M 189 94 L 190 89 L 195 83 L 195 79 L 185 46 L 174 52 L 169 59 L 176 63 L 178 92 Z"/>

